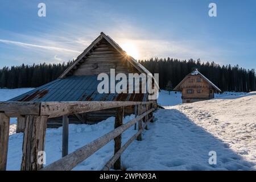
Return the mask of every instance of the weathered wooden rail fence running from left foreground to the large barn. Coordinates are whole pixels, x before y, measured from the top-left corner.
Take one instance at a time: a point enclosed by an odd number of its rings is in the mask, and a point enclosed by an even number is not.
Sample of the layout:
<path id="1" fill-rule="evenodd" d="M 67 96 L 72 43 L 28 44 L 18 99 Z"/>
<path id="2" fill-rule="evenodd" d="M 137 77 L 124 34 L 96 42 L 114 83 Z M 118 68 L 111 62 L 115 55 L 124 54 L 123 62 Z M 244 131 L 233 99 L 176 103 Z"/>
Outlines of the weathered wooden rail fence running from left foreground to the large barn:
<path id="1" fill-rule="evenodd" d="M 125 106 L 135 106 L 135 118 L 123 124 Z M 116 108 L 115 129 L 68 154 L 68 115 Z M 114 156 L 102 170 L 121 169 L 121 154 L 135 139 L 142 140 L 142 131 L 154 118 L 155 101 L 85 101 L 85 102 L 0 102 L 0 170 L 6 170 L 10 117 L 24 118 L 22 164 L 24 170 L 71 170 L 114 139 Z M 43 168 L 39 151 L 44 151 L 48 118 L 63 116 L 63 158 Z M 138 132 L 122 146 L 122 133 L 135 126 Z"/>

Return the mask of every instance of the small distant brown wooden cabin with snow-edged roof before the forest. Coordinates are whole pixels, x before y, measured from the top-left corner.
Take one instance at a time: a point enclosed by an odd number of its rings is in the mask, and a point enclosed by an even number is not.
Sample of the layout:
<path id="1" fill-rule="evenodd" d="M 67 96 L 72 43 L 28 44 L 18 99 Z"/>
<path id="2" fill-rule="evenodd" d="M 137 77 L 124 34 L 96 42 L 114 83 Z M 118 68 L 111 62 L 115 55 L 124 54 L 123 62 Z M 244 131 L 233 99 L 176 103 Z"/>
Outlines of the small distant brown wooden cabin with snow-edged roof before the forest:
<path id="1" fill-rule="evenodd" d="M 185 76 L 174 90 L 181 91 L 182 103 L 209 100 L 214 98 L 215 92 L 221 92 L 216 85 L 197 69 Z"/>

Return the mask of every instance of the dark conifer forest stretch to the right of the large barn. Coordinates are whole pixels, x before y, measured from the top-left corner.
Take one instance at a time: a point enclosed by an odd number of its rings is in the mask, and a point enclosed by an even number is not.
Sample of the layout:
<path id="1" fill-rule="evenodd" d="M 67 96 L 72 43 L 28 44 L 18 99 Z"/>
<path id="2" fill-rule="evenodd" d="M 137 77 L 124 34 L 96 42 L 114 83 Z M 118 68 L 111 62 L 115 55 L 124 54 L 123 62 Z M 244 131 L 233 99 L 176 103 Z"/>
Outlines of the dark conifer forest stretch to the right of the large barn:
<path id="1" fill-rule="evenodd" d="M 198 60 L 150 59 L 140 60 L 151 73 L 159 73 L 161 89 L 173 89 L 183 78 L 199 69 L 205 77 L 222 91 L 251 92 L 255 91 L 255 70 L 241 68 L 238 65 L 219 65 L 214 62 L 201 63 Z"/>

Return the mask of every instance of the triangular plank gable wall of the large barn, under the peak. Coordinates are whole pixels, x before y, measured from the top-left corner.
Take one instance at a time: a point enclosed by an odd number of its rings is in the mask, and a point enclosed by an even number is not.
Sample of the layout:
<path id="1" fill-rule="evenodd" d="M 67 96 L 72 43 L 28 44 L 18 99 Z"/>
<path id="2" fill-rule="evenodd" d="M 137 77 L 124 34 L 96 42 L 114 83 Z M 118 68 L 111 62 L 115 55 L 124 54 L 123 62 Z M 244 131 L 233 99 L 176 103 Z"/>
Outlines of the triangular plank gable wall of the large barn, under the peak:
<path id="1" fill-rule="evenodd" d="M 75 76 L 98 75 L 100 73 L 110 74 L 110 69 L 115 73 L 139 73 L 138 70 L 127 61 L 127 57 L 121 55 L 105 39 L 97 45 L 76 71 Z"/>

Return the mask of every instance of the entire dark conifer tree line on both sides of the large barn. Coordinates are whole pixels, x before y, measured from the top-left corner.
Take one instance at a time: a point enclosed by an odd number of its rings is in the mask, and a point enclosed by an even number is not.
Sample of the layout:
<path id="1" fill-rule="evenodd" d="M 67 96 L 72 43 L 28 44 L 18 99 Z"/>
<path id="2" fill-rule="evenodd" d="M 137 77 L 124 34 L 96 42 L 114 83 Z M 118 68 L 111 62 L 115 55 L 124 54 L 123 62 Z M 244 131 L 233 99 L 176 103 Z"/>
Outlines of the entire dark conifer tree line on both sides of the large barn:
<path id="1" fill-rule="evenodd" d="M 0 88 L 35 88 L 55 80 L 73 61 L 59 64 L 33 64 L 0 69 Z M 251 92 L 256 90 L 254 69 L 238 65 L 219 65 L 198 60 L 158 59 L 139 60 L 151 73 L 159 73 L 161 89 L 173 89 L 195 68 L 222 91 Z"/>

